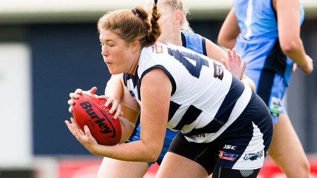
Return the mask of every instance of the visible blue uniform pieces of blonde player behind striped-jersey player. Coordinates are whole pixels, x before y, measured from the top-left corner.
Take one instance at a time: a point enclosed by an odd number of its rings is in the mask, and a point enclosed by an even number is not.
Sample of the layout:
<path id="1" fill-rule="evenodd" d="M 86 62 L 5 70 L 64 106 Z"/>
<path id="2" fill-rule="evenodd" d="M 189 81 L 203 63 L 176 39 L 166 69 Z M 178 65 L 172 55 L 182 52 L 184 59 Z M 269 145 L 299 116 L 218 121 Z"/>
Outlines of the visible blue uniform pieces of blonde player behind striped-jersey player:
<path id="1" fill-rule="evenodd" d="M 181 40 L 182 40 L 182 46 L 193 50 L 197 53 L 201 53 L 206 55 L 206 45 L 205 45 L 205 38 L 195 34 L 192 31 L 189 30 L 182 30 L 181 31 Z M 139 125 L 139 118 L 138 118 L 138 122 L 137 122 L 137 126 L 136 129 L 134 130 L 132 136 L 130 137 L 129 141 L 133 142 L 133 141 L 138 141 L 140 140 L 140 125 Z M 177 134 L 177 132 L 174 132 L 170 129 L 166 129 L 166 134 L 165 134 L 165 140 L 164 140 L 164 144 L 163 144 L 163 148 L 162 148 L 162 152 L 159 155 L 159 158 L 157 160 L 158 164 L 161 163 L 161 161 L 163 160 L 164 155 L 166 154 L 166 152 L 168 151 L 168 147 L 170 146 L 172 140 L 174 139 L 175 135 Z M 154 162 L 149 162 L 149 165 L 151 165 Z"/>

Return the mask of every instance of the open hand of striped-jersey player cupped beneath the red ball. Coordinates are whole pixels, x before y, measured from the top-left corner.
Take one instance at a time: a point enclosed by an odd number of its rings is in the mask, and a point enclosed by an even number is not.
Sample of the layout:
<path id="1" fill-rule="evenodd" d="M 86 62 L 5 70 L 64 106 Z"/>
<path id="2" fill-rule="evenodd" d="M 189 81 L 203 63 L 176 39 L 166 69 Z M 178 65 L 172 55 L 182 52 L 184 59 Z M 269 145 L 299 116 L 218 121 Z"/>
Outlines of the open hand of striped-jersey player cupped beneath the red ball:
<path id="1" fill-rule="evenodd" d="M 84 145 L 90 152 L 93 152 L 94 147 L 98 145 L 96 139 L 91 135 L 91 132 L 87 125 L 84 126 L 84 132 L 82 132 L 76 125 L 74 118 L 70 118 L 70 121 L 65 121 L 69 131 L 76 137 L 76 139 Z"/>

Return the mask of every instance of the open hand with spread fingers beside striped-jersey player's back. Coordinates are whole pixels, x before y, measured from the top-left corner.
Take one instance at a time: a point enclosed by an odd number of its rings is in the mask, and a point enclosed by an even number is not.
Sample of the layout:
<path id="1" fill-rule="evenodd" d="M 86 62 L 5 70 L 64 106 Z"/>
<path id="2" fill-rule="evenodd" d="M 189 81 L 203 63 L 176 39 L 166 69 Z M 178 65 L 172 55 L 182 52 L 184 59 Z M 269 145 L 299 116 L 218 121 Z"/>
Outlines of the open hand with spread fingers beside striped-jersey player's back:
<path id="1" fill-rule="evenodd" d="M 224 64 L 226 69 L 241 80 L 245 67 L 246 67 L 246 61 L 244 60 L 242 63 L 241 57 L 237 53 L 236 49 L 232 49 L 232 52 L 231 50 L 228 49 L 227 53 L 228 53 L 228 64 Z M 224 60 L 221 60 L 221 62 L 225 63 Z"/>

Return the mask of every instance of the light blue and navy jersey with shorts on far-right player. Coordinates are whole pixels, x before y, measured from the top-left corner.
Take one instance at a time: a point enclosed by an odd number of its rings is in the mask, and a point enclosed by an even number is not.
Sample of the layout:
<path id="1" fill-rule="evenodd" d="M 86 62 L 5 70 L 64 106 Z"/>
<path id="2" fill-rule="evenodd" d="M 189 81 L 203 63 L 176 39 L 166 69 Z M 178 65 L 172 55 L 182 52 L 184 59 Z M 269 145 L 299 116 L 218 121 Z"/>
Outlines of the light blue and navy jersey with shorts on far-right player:
<path id="1" fill-rule="evenodd" d="M 280 48 L 273 0 L 234 0 L 234 10 L 241 31 L 235 48 L 247 62 L 244 74 L 255 82 L 276 124 L 278 114 L 286 112 L 281 100 L 289 85 L 293 60 Z M 303 19 L 300 3 L 300 23 Z"/>

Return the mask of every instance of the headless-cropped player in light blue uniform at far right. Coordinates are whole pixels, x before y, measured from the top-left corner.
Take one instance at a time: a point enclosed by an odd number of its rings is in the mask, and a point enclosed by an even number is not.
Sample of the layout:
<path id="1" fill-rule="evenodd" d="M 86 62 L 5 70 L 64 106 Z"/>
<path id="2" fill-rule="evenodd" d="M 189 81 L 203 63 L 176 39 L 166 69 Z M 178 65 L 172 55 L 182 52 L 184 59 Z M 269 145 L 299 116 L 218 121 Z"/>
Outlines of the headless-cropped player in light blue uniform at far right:
<path id="1" fill-rule="evenodd" d="M 234 0 L 218 43 L 235 47 L 247 61 L 245 74 L 269 107 L 274 136 L 269 155 L 288 178 L 308 178 L 309 162 L 282 105 L 295 62 L 305 73 L 313 71 L 300 39 L 304 11 L 299 0 Z M 296 65 L 294 65 L 294 70 Z"/>

